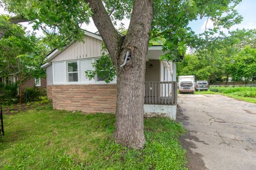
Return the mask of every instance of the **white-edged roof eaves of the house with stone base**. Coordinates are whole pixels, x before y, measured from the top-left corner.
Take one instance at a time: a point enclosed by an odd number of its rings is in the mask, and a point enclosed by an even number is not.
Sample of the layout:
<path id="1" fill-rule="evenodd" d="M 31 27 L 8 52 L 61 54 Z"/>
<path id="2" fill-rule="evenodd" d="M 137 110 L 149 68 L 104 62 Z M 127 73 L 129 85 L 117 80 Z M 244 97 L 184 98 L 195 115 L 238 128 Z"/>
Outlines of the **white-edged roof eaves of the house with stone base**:
<path id="1" fill-rule="evenodd" d="M 83 30 L 83 29 L 82 29 Z M 98 31 L 93 33 L 93 32 L 90 32 L 90 31 L 86 31 L 86 30 L 83 30 L 84 31 L 84 34 L 86 36 L 89 36 L 89 37 L 93 37 L 93 38 L 96 38 L 98 40 L 101 40 L 102 41 L 102 38 L 101 36 L 98 34 Z M 49 54 L 47 54 L 46 56 L 46 61 L 50 62 L 54 57 L 56 57 L 58 54 L 60 54 L 61 52 L 63 52 L 63 50 L 65 50 L 66 48 L 68 48 L 71 44 L 73 44 L 73 42 L 71 42 L 69 45 L 65 46 L 65 47 L 62 47 L 61 49 L 53 49 Z M 153 53 L 152 55 L 158 55 L 159 51 L 161 51 L 160 53 L 162 53 L 162 45 L 156 45 L 156 46 L 151 46 L 148 48 L 148 50 L 158 50 L 158 52 L 155 51 L 155 53 Z M 42 65 L 41 67 L 47 67 L 49 66 L 51 63 L 45 63 L 44 65 Z"/>

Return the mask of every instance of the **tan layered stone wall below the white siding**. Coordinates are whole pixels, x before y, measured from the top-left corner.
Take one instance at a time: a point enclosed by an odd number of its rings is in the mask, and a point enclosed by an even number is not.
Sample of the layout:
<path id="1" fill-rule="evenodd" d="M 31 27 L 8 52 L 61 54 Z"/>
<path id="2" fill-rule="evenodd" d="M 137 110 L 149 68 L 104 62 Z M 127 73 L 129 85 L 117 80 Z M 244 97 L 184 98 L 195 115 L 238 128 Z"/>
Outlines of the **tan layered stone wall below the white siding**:
<path id="1" fill-rule="evenodd" d="M 52 86 L 53 108 L 66 111 L 115 113 L 116 96 L 116 84 Z"/>

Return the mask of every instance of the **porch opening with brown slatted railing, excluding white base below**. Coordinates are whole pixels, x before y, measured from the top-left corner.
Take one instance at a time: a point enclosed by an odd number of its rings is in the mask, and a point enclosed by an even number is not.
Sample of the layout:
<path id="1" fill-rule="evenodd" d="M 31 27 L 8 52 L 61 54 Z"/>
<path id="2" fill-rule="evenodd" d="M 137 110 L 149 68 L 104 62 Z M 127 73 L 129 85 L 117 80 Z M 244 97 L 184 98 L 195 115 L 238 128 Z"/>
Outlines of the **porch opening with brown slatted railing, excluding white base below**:
<path id="1" fill-rule="evenodd" d="M 177 87 L 175 63 L 146 62 L 145 104 L 177 105 Z"/>

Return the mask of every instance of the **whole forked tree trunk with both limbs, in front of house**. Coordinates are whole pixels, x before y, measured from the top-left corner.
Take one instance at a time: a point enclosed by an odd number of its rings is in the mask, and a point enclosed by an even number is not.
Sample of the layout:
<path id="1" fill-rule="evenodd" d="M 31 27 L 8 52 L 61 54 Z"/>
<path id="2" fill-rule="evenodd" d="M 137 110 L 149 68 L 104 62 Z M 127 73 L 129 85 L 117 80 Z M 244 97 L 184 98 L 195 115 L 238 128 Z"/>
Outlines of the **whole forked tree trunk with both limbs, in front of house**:
<path id="1" fill-rule="evenodd" d="M 85 0 L 92 8 L 92 18 L 107 46 L 117 71 L 115 141 L 130 148 L 143 148 L 144 82 L 149 31 L 153 20 L 153 1 L 135 0 L 129 29 L 121 37 L 100 0 Z M 130 60 L 123 64 L 126 52 Z"/>

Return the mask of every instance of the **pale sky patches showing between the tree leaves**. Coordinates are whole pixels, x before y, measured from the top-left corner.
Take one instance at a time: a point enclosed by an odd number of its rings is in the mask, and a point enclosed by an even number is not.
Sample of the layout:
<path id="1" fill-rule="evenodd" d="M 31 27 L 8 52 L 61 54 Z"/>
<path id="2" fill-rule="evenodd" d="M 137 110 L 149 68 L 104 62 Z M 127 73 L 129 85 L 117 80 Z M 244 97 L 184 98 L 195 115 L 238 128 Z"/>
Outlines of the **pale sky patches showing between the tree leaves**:
<path id="1" fill-rule="evenodd" d="M 233 27 L 230 28 L 230 30 L 235 30 L 235 29 L 256 29 L 256 0 L 243 0 L 238 6 L 237 6 L 237 11 L 239 14 L 243 16 L 243 21 L 240 24 L 234 25 Z M 1 14 L 8 14 L 6 11 L 4 11 L 3 7 L 0 7 L 0 13 Z M 197 21 L 192 21 L 189 24 L 189 27 L 191 27 L 196 33 L 202 33 L 205 30 L 205 23 L 206 23 L 206 18 L 203 18 L 201 20 Z M 90 19 L 90 24 L 86 25 L 83 24 L 82 28 L 86 29 L 91 32 L 97 32 L 97 28 L 95 27 L 92 19 Z M 115 26 L 116 28 L 119 27 L 119 24 L 121 22 L 118 22 L 117 25 Z M 124 28 L 129 27 L 130 21 L 125 19 L 122 21 L 124 24 Z M 28 22 L 26 23 L 21 23 L 24 27 L 27 28 L 27 30 L 33 31 L 32 24 L 29 24 Z M 212 28 L 213 23 L 211 21 L 208 21 L 206 28 Z M 36 30 L 36 35 L 43 36 L 42 30 Z M 228 30 L 223 29 L 223 32 L 228 32 Z"/>

